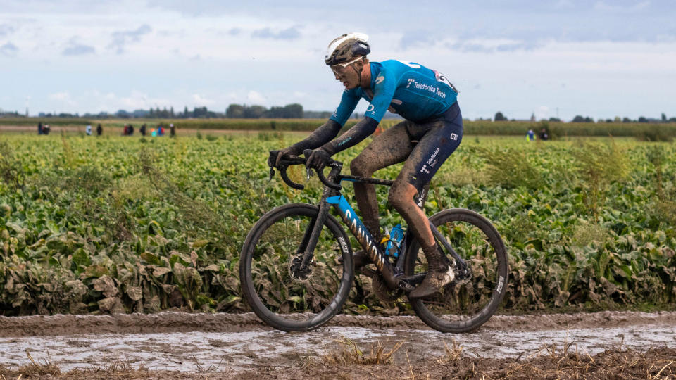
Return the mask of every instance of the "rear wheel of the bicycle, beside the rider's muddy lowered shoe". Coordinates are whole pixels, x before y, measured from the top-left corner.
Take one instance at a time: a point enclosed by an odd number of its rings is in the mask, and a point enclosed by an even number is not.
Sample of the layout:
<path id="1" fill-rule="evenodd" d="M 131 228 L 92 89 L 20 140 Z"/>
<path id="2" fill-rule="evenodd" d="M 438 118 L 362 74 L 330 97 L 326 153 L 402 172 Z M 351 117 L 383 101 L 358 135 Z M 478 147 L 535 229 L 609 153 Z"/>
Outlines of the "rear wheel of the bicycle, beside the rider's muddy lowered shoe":
<path id="1" fill-rule="evenodd" d="M 430 221 L 467 262 L 471 276 L 463 281 L 456 273 L 456 280 L 431 298 L 409 299 L 411 306 L 433 329 L 451 333 L 475 330 L 494 314 L 505 295 L 505 245 L 491 222 L 471 210 L 443 210 L 432 215 Z M 427 272 L 427 260 L 418 241 L 409 246 L 405 264 L 407 275 Z"/>

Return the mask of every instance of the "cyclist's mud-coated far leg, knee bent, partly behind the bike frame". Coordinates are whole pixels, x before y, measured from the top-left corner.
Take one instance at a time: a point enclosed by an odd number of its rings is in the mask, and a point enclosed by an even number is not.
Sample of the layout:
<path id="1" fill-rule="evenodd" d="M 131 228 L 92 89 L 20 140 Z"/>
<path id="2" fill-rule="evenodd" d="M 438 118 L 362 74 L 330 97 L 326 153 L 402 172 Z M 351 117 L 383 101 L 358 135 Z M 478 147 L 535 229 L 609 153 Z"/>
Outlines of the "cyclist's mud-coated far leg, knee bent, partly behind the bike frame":
<path id="1" fill-rule="evenodd" d="M 401 163 L 413 149 L 411 139 L 406 132 L 406 122 L 400 122 L 374 137 L 373 141 L 352 160 L 350 172 L 360 177 L 371 177 L 376 170 Z M 354 184 L 354 195 L 359 212 L 368 232 L 380 243 L 380 222 L 378 202 L 373 184 Z"/>

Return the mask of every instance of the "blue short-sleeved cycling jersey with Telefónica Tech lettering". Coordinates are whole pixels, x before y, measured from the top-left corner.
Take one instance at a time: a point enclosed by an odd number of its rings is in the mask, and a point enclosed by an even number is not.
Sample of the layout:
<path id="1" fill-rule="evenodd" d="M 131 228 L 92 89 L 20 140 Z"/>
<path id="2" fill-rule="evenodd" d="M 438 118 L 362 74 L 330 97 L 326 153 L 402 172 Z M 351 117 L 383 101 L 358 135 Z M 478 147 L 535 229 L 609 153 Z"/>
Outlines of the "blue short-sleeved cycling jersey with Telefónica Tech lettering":
<path id="1" fill-rule="evenodd" d="M 371 62 L 370 68 L 370 89 L 346 89 L 331 120 L 344 125 L 362 98 L 370 101 L 365 116 L 377 122 L 387 110 L 406 120 L 427 120 L 442 115 L 456 102 L 458 91 L 436 70 L 396 60 Z"/>

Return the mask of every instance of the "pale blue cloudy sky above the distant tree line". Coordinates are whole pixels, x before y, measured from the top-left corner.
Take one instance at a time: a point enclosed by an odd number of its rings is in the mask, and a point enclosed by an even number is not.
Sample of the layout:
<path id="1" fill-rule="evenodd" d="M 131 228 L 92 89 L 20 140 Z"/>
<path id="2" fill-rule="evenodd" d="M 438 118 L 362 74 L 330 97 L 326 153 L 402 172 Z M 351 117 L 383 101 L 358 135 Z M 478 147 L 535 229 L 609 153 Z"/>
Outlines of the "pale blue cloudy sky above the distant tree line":
<path id="1" fill-rule="evenodd" d="M 676 116 L 676 1 L 0 0 L 0 108 L 333 110 L 344 32 L 444 72 L 465 118 Z M 358 111 L 366 107 L 360 103 Z"/>

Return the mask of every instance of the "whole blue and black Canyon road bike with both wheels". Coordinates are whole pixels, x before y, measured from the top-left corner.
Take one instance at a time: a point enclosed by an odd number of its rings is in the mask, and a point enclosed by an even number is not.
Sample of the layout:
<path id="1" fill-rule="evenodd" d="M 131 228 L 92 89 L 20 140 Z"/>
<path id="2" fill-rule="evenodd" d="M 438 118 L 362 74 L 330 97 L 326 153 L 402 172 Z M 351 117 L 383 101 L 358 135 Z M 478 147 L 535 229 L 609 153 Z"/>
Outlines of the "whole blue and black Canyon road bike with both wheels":
<path id="1" fill-rule="evenodd" d="M 303 153 L 308 157 L 309 152 Z M 270 151 L 270 155 L 276 157 L 277 151 Z M 289 166 L 304 164 L 301 157 L 284 158 L 277 169 L 287 185 L 304 189 L 287 175 Z M 316 171 L 324 184 L 318 205 L 290 203 L 270 210 L 256 222 L 242 246 L 239 278 L 244 298 L 253 312 L 275 329 L 316 329 L 342 310 L 349 296 L 355 275 L 351 243 L 337 218 L 329 213 L 330 207 L 375 263 L 376 270 L 370 271 L 374 291 L 396 300 L 415 289 L 427 274 L 425 255 L 412 234 L 405 232 L 398 249 L 388 255 L 340 194 L 344 181 L 384 186 L 392 186 L 394 181 L 342 175 L 342 163 L 335 160 L 327 167 L 327 176 L 323 170 Z M 274 174 L 275 167 L 270 167 L 270 179 Z M 425 190 L 415 198 L 420 208 L 425 203 Z M 472 210 L 442 210 L 429 220 L 455 279 L 432 298 L 408 301 L 433 329 L 473 331 L 494 314 L 505 295 L 505 245 L 491 222 Z"/>

